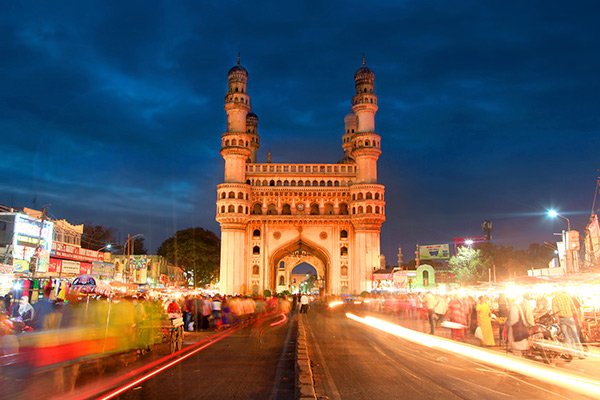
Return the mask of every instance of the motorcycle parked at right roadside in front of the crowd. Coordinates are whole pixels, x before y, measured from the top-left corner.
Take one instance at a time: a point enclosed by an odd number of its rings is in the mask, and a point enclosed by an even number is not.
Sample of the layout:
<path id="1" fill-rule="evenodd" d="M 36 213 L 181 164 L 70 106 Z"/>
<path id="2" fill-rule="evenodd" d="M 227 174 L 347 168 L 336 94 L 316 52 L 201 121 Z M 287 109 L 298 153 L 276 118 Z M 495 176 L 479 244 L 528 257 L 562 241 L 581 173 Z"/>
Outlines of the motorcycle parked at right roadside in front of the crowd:
<path id="1" fill-rule="evenodd" d="M 529 328 L 530 347 L 526 354 L 529 358 L 541 359 L 546 364 L 556 360 L 571 362 L 572 350 L 566 346 L 564 335 L 557 318 L 545 313 L 537 318 L 536 324 Z"/>

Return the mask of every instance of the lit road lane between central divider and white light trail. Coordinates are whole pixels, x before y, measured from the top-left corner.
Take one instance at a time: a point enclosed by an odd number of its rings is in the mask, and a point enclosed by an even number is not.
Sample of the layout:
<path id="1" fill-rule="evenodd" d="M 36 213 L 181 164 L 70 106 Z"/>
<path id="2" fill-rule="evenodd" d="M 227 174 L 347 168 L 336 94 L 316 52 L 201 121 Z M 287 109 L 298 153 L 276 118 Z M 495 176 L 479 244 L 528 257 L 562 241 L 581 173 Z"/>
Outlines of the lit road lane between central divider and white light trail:
<path id="1" fill-rule="evenodd" d="M 346 318 L 301 316 L 315 390 L 328 399 L 578 399 L 566 389 L 423 345 Z M 540 363 L 540 365 L 542 365 Z"/>

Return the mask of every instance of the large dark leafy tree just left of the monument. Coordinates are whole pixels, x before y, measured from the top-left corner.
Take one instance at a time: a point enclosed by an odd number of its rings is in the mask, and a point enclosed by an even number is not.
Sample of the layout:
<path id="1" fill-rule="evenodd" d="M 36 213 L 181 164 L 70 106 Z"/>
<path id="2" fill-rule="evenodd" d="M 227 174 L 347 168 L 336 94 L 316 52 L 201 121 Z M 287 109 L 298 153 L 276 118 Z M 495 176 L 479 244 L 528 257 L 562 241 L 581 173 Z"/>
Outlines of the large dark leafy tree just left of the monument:
<path id="1" fill-rule="evenodd" d="M 183 268 L 195 287 L 208 285 L 219 276 L 221 241 L 203 228 L 177 231 L 158 248 L 158 254 Z"/>

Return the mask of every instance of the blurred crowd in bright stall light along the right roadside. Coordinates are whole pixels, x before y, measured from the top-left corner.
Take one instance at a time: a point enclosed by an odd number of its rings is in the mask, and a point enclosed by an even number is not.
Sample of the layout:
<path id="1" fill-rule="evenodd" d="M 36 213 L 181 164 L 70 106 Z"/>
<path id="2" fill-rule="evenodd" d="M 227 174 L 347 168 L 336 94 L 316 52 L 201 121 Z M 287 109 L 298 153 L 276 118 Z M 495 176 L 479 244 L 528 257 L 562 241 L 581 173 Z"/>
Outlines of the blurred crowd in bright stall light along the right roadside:
<path id="1" fill-rule="evenodd" d="M 371 311 L 390 314 L 401 322 L 431 335 L 448 334 L 458 341 L 475 341 L 484 347 L 506 346 L 523 355 L 531 341 L 515 331 L 520 325 L 529 330 L 543 315 L 554 316 L 564 342 L 581 350 L 584 321 L 582 302 L 564 291 L 536 298 L 527 293 L 507 297 L 460 294 L 435 294 L 431 291 L 399 295 L 369 295 L 365 306 Z"/>

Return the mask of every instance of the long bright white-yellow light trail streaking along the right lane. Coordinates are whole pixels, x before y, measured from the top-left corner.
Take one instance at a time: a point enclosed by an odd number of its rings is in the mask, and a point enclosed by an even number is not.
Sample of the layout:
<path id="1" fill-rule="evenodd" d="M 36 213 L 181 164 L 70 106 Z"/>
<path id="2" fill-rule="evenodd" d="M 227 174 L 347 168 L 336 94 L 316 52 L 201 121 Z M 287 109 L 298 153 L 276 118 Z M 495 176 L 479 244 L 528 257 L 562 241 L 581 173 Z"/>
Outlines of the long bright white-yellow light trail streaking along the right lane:
<path id="1" fill-rule="evenodd" d="M 483 362 L 499 368 L 507 369 L 526 375 L 537 380 L 560 386 L 568 390 L 581 393 L 586 396 L 600 398 L 600 381 L 569 372 L 557 371 L 533 361 L 523 360 L 514 356 L 496 353 L 469 344 L 455 342 L 453 340 L 427 335 L 413 331 L 396 324 L 374 317 L 358 317 L 352 313 L 346 313 L 346 317 L 361 324 L 379 329 L 381 331 L 398 336 L 402 339 L 423 346 L 437 348 L 459 356 L 468 357 L 472 360 Z"/>

